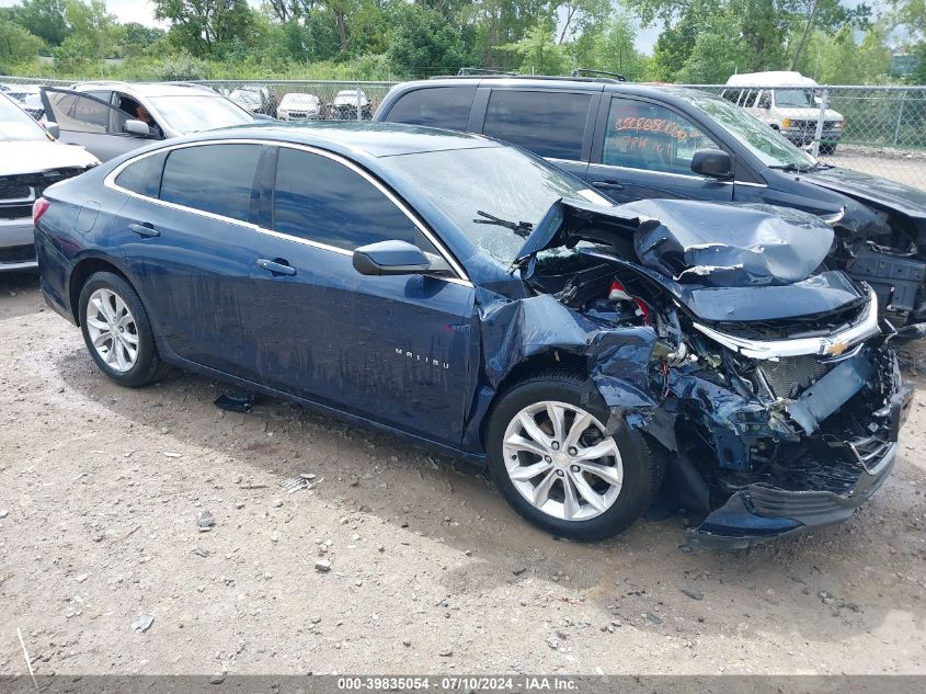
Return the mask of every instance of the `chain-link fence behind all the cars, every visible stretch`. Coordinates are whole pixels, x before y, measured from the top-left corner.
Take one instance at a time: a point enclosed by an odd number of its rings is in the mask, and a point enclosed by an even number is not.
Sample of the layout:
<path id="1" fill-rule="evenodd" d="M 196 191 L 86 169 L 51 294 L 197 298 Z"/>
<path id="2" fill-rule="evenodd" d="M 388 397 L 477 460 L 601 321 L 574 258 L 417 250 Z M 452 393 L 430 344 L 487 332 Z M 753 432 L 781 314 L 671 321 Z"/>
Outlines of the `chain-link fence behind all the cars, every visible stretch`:
<path id="1" fill-rule="evenodd" d="M 0 77 L 0 84 L 69 86 Z M 199 80 L 282 121 L 364 121 L 396 82 Z M 926 87 L 687 84 L 736 103 L 821 161 L 926 190 Z"/>

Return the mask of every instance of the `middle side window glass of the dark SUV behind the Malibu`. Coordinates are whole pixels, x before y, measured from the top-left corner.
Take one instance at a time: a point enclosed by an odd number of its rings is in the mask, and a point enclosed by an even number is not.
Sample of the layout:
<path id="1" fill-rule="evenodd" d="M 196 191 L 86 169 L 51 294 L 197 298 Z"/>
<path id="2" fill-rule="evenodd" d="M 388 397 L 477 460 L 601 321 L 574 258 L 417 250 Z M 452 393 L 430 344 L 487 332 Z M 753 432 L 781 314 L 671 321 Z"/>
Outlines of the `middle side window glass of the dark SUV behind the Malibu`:
<path id="1" fill-rule="evenodd" d="M 493 90 L 482 132 L 557 159 L 582 158 L 590 94 Z"/>

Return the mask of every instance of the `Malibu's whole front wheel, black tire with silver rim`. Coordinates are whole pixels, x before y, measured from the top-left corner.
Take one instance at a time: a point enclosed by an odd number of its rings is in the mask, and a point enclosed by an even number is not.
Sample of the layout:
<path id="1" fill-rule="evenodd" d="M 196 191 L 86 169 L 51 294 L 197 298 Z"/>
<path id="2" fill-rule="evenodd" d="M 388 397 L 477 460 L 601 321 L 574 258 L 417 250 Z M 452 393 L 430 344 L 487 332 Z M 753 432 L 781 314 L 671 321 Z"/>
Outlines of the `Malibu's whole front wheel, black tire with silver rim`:
<path id="1" fill-rule="evenodd" d="M 592 398 L 590 392 L 594 394 Z M 553 413 L 562 416 L 562 442 L 557 441 L 551 407 Z M 590 419 L 580 421 L 582 412 Z M 530 429 L 533 439 L 523 425 L 525 416 L 540 430 L 536 434 Z M 560 537 L 591 542 L 629 527 L 645 512 L 662 485 L 665 454 L 622 420 L 607 436 L 607 408 L 583 375 L 544 372 L 512 387 L 492 409 L 487 428 L 489 470 L 502 496 L 527 521 Z M 581 433 L 578 441 L 570 436 L 576 422 Z M 546 436 L 548 445 L 536 445 L 538 435 Z M 583 457 L 592 448 L 604 455 Z M 548 455 L 541 457 L 540 452 Z M 534 471 L 535 477 L 525 479 Z M 541 489 L 545 485 L 546 491 Z M 574 492 L 572 503 L 567 500 L 568 486 Z M 538 504 L 538 499 L 545 498 Z"/>

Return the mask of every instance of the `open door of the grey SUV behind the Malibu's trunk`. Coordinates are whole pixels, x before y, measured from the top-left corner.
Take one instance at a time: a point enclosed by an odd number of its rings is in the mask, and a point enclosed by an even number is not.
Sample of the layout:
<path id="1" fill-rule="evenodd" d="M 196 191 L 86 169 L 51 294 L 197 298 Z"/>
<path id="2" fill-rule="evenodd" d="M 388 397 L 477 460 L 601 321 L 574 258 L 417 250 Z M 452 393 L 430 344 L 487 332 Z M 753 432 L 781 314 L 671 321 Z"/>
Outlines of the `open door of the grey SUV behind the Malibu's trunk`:
<path id="1" fill-rule="evenodd" d="M 89 93 L 45 87 L 42 101 L 45 118 L 58 125 L 58 139 L 84 147 L 101 161 L 138 149 L 149 141 L 147 137 L 126 132 L 125 124 L 129 120 L 126 113 Z"/>

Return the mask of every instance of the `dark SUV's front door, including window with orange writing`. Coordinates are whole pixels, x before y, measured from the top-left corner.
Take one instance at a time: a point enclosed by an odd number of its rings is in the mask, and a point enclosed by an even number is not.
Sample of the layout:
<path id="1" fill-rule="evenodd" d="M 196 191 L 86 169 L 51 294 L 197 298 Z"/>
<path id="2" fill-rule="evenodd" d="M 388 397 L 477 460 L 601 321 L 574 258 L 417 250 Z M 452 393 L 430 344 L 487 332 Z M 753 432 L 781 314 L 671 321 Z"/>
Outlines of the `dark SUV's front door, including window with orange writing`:
<path id="1" fill-rule="evenodd" d="M 617 203 L 649 197 L 732 201 L 732 181 L 691 171 L 691 158 L 702 148 L 723 149 L 688 117 L 663 104 L 610 96 L 599 106 L 585 178 Z"/>

